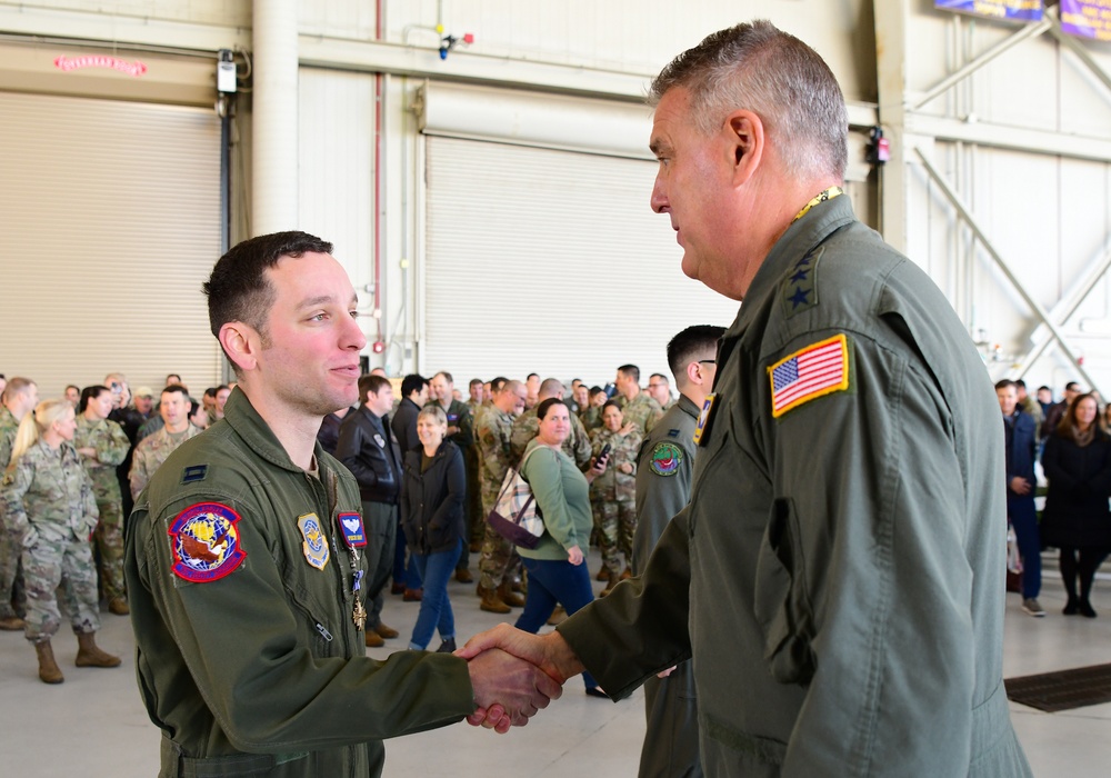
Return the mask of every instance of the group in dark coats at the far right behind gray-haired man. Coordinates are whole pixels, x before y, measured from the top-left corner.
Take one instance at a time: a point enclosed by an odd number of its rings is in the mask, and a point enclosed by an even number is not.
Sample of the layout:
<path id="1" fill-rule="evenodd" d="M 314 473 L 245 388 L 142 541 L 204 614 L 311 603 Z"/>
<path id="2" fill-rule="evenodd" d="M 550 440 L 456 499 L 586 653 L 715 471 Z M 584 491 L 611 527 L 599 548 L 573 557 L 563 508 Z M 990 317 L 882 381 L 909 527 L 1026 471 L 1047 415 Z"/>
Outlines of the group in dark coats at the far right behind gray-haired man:
<path id="1" fill-rule="evenodd" d="M 1003 412 L 1008 520 L 1021 558 L 1022 609 L 1045 615 L 1038 601 L 1041 552 L 1055 548 L 1064 615 L 1095 618 L 1092 584 L 1111 553 L 1111 408 L 1101 412 L 1099 395 L 1082 392 L 1075 381 L 1065 386 L 1060 402 L 1045 386 L 1031 397 L 1021 380 L 999 381 L 995 395 Z M 1034 502 L 1039 456 L 1048 481 L 1040 521 Z"/>

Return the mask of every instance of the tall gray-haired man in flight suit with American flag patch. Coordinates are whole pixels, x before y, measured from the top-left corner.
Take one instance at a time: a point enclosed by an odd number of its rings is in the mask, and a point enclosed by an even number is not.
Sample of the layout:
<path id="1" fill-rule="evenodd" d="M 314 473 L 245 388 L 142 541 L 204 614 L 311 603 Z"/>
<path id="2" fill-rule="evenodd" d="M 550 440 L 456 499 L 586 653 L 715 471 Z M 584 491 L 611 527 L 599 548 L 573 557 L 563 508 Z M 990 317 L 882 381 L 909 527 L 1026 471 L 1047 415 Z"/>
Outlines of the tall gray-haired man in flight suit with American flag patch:
<path id="1" fill-rule="evenodd" d="M 1002 682 L 999 406 L 944 295 L 853 216 L 833 73 L 757 21 L 651 98 L 652 208 L 683 271 L 744 301 L 690 505 L 557 631 L 461 654 L 588 669 L 614 699 L 693 658 L 708 775 L 1030 775 Z"/>

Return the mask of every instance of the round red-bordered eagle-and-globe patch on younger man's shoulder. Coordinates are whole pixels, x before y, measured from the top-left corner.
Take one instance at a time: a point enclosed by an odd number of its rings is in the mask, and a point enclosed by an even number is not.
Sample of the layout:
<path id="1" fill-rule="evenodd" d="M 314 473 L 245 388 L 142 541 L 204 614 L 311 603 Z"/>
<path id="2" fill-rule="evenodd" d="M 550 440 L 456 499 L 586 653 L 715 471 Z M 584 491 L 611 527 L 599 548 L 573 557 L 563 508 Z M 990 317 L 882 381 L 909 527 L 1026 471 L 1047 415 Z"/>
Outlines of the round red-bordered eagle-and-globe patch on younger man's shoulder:
<path id="1" fill-rule="evenodd" d="M 219 502 L 198 502 L 178 513 L 168 530 L 173 575 L 192 584 L 223 578 L 243 561 L 239 513 Z"/>

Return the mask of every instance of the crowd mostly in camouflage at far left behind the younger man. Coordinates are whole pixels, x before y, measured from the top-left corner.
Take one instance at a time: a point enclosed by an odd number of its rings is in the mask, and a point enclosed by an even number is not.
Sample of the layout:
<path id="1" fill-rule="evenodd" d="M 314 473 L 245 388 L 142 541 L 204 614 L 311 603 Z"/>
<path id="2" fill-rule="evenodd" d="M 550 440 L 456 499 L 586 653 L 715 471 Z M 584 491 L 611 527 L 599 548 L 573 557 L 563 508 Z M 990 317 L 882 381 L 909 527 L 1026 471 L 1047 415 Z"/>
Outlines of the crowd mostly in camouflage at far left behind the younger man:
<path id="1" fill-rule="evenodd" d="M 134 498 L 184 440 L 223 416 L 231 388 L 200 401 L 176 375 L 156 399 L 132 393 L 119 372 L 103 383 L 64 388 L 39 399 L 30 378 L 0 376 L 0 630 L 22 630 L 39 658 L 39 677 L 64 676 L 51 639 L 60 625 L 56 589 L 80 646 L 79 667 L 116 667 L 97 647 L 100 602 L 127 616 L 123 522 Z"/>

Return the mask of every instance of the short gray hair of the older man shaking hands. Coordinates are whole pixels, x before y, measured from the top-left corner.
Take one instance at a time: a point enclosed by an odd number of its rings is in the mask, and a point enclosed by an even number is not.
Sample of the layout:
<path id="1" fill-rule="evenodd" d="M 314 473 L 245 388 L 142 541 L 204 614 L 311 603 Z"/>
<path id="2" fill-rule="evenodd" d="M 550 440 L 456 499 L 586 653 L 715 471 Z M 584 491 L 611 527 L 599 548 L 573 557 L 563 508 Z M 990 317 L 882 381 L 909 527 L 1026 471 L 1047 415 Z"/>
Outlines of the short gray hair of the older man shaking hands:
<path id="1" fill-rule="evenodd" d="M 844 180 L 849 112 L 841 88 L 817 51 L 771 22 L 720 30 L 679 54 L 652 81 L 649 104 L 674 87 L 690 91 L 702 134 L 747 109 L 760 117 L 792 176 Z"/>

